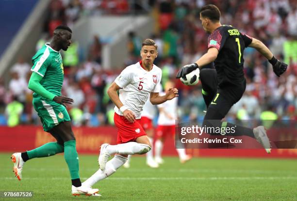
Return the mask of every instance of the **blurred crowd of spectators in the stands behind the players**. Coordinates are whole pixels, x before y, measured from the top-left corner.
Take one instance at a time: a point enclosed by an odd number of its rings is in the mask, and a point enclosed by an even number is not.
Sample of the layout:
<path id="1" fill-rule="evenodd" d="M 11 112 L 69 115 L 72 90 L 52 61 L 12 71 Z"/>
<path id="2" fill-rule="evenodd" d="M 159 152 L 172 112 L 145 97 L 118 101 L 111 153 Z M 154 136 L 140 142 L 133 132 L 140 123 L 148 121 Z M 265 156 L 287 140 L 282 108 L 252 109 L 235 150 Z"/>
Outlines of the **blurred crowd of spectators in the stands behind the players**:
<path id="1" fill-rule="evenodd" d="M 180 90 L 180 118 L 200 121 L 206 109 L 201 85 L 184 86 L 174 77 L 179 68 L 197 61 L 207 51 L 208 35 L 199 20 L 199 9 L 205 4 L 219 7 L 222 24 L 260 39 L 276 58 L 288 64 L 287 72 L 276 77 L 269 62 L 255 49 L 247 48 L 244 52 L 246 92 L 226 118 L 297 120 L 297 0 L 52 0 L 45 34 L 36 49 L 49 41 L 56 26 L 71 27 L 83 16 L 150 14 L 156 21 L 151 38 L 158 45 L 155 64 L 162 68 L 162 83 L 172 79 Z M 68 107 L 73 124 L 113 124 L 114 104 L 106 90 L 125 66 L 140 60 L 144 39 L 133 31 L 128 37 L 130 56 L 117 71 L 101 68 L 101 50 L 105 44 L 98 35 L 90 39 L 87 52 L 82 52 L 75 41 L 63 52 L 63 94 L 75 100 Z M 11 67 L 9 85 L 4 87 L 0 79 L 0 114 L 3 114 L 0 124 L 40 124 L 32 106 L 32 92 L 27 88 L 31 65 L 19 58 Z"/>

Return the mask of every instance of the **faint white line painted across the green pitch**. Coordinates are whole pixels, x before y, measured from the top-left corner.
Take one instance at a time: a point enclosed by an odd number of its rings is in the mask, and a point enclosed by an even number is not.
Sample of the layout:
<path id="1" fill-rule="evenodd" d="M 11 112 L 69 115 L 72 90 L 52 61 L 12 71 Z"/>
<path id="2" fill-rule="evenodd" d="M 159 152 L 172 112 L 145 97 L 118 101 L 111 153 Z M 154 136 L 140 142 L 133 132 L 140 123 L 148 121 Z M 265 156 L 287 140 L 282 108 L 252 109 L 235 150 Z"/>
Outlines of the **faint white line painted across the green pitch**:
<path id="1" fill-rule="evenodd" d="M 13 180 L 14 177 L 0 177 L 0 179 Z M 28 177 L 24 180 L 69 180 L 68 177 Z M 86 180 L 88 178 L 81 178 Z M 297 177 L 112 177 L 106 178 L 107 180 L 286 180 L 286 179 L 297 179 Z"/>

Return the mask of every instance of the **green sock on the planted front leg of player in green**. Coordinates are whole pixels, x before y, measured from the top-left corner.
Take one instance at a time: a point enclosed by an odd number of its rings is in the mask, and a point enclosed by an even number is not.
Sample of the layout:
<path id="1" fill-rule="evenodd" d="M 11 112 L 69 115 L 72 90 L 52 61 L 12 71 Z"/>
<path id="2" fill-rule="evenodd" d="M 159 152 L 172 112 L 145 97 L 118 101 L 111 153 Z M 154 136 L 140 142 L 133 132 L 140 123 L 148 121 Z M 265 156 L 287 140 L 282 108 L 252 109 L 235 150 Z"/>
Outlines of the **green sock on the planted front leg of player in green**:
<path id="1" fill-rule="evenodd" d="M 79 161 L 76 151 L 76 141 L 69 140 L 64 142 L 64 158 L 68 165 L 71 179 L 80 178 L 79 175 Z"/>

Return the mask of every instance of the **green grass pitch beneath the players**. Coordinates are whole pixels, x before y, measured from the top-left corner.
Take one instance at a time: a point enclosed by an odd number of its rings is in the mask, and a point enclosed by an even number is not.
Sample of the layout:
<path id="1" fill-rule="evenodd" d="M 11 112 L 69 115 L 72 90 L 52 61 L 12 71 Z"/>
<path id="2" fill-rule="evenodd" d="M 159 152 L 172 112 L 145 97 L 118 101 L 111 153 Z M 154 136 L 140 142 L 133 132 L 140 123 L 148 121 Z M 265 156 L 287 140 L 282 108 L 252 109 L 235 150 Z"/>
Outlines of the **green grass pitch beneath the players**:
<path id="1" fill-rule="evenodd" d="M 102 197 L 71 195 L 63 155 L 35 158 L 23 169 L 23 180 L 12 172 L 11 154 L 0 154 L 0 191 L 33 191 L 33 198 L 3 201 L 296 201 L 296 159 L 193 158 L 180 164 L 165 157 L 158 169 L 134 156 L 131 168 L 121 167 L 93 187 Z M 82 181 L 98 170 L 97 155 L 80 156 Z"/>

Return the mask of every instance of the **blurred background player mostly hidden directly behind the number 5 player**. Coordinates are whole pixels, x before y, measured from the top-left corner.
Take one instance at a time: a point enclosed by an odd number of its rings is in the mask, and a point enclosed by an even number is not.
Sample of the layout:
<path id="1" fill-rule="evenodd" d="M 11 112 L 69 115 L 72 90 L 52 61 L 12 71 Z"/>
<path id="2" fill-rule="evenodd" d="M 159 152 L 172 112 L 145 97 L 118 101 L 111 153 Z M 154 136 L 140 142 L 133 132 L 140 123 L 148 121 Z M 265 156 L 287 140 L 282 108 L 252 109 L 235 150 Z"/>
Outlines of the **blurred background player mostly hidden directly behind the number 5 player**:
<path id="1" fill-rule="evenodd" d="M 149 99 L 143 106 L 143 110 L 141 112 L 140 125 L 145 130 L 148 135 L 149 142 L 151 144 L 151 150 L 147 153 L 147 165 L 151 168 L 158 168 L 159 164 L 153 158 L 153 137 L 154 137 L 154 127 L 152 124 L 153 118 L 156 115 L 156 107 L 151 104 Z M 132 155 L 128 155 L 128 160 L 124 164 L 124 168 L 130 168 L 130 160 Z"/>

